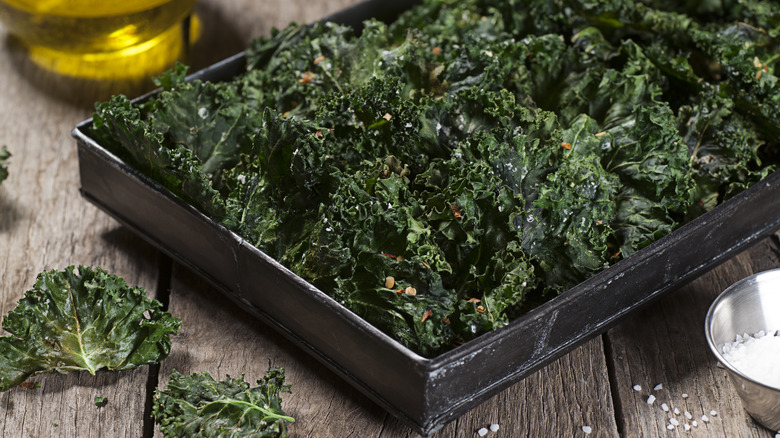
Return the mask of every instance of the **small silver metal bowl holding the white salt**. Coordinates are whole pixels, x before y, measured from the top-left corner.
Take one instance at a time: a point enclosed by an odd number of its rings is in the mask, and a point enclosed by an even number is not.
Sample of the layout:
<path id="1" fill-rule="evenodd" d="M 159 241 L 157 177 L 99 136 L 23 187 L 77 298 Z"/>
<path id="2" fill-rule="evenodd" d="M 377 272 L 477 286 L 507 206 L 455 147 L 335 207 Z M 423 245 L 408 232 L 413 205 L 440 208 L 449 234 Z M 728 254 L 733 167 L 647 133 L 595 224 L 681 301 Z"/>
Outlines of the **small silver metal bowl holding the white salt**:
<path id="1" fill-rule="evenodd" d="M 773 431 L 780 430 L 780 388 L 752 379 L 734 368 L 721 347 L 737 334 L 780 330 L 780 269 L 744 278 L 724 290 L 710 306 L 704 324 L 707 343 L 720 361 L 753 419 Z"/>

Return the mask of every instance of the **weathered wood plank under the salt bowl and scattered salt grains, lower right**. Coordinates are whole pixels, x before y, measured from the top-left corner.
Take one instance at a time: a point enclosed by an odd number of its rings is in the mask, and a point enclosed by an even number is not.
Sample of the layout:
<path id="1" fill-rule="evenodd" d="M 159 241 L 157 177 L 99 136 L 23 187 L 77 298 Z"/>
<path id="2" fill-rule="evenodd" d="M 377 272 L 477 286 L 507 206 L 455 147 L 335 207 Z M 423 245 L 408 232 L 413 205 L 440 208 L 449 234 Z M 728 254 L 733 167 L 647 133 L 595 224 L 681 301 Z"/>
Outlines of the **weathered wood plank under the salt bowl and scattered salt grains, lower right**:
<path id="1" fill-rule="evenodd" d="M 690 433 L 694 437 L 769 437 L 745 413 L 725 371 L 716 366 L 704 338 L 712 301 L 733 282 L 780 265 L 776 245 L 765 239 L 718 268 L 638 312 L 606 337 L 625 437 Z M 662 384 L 663 389 L 653 391 Z M 633 385 L 642 387 L 640 391 Z M 683 398 L 682 394 L 688 394 Z M 650 405 L 650 395 L 656 401 Z M 671 412 L 662 409 L 666 403 Z M 681 414 L 675 414 L 677 408 Z M 717 412 L 717 416 L 710 411 Z M 685 412 L 692 415 L 687 419 Z M 702 420 L 707 415 L 709 422 Z M 667 429 L 670 419 L 680 425 Z M 692 421 L 697 421 L 697 426 Z M 684 425 L 690 425 L 685 431 Z"/>

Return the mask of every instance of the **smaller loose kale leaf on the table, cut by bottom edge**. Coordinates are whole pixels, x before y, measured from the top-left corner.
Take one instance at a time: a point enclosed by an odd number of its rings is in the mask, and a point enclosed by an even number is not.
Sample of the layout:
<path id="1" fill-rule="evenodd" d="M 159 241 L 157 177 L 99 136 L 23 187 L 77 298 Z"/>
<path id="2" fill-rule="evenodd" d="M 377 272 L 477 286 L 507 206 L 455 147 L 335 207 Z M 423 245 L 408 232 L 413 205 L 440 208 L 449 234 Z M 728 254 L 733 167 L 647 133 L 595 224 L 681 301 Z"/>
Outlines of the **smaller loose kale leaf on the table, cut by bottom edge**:
<path id="1" fill-rule="evenodd" d="M 166 437 L 286 437 L 295 419 L 282 411 L 280 393 L 290 392 L 284 369 L 269 369 L 257 384 L 174 370 L 166 388 L 155 391 L 152 416 Z"/>

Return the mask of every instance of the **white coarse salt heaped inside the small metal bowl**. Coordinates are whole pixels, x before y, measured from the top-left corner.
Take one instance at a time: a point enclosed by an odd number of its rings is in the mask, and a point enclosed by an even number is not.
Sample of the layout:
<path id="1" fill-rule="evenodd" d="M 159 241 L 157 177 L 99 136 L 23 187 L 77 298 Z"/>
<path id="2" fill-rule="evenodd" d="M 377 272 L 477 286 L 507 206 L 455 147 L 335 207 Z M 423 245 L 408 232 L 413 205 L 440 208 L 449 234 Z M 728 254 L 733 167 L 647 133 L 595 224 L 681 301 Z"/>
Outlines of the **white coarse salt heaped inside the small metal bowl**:
<path id="1" fill-rule="evenodd" d="M 774 330 L 736 336 L 721 346 L 723 358 L 748 377 L 780 388 L 780 336 Z"/>

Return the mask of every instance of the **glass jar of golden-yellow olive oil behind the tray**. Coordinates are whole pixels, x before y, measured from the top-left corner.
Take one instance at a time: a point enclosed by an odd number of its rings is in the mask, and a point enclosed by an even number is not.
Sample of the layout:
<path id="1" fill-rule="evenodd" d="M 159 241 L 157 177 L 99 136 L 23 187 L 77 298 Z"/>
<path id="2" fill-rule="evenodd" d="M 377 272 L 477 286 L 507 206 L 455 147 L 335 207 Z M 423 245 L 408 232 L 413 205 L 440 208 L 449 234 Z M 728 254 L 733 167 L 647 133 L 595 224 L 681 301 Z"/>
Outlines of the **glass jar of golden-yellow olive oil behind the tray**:
<path id="1" fill-rule="evenodd" d="M 185 56 L 196 0 L 0 0 L 33 62 L 92 79 L 157 74 Z"/>

